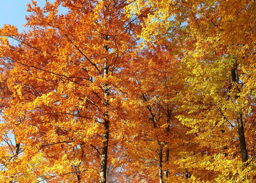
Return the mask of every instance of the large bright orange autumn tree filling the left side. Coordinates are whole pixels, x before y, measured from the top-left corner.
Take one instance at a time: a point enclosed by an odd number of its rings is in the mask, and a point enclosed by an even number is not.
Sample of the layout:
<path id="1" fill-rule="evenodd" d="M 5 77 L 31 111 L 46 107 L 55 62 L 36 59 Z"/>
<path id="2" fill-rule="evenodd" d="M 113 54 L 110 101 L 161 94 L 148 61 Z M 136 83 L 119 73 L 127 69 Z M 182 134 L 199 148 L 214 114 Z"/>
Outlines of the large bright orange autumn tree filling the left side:
<path id="1" fill-rule="evenodd" d="M 23 149 L 1 173 L 21 178 L 23 165 L 42 154 L 37 178 L 28 182 L 106 182 L 121 140 L 115 129 L 123 125 L 117 81 L 140 29 L 137 16 L 124 14 L 126 5 L 57 0 L 41 8 L 32 1 L 27 32 L 0 30 L 1 64 L 10 68 L 2 68 L 1 82 L 11 95 L 2 129 L 9 127 Z"/>

